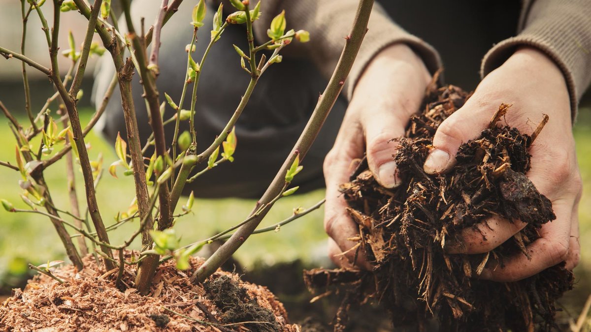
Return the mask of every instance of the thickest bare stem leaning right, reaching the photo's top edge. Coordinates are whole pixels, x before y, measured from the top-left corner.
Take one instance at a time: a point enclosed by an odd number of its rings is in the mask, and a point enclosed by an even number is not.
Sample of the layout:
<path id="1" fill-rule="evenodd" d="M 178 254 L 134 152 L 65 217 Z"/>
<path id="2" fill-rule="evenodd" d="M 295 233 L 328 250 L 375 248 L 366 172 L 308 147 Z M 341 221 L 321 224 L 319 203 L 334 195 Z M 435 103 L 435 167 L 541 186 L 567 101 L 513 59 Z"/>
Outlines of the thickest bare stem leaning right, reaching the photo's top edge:
<path id="1" fill-rule="evenodd" d="M 329 83 L 324 90 L 322 96 L 312 113 L 309 122 L 304 128 L 304 131 L 300 135 L 300 138 L 294 145 L 294 148 L 288 155 L 284 164 L 275 175 L 274 180 L 265 191 L 265 194 L 261 197 L 258 203 L 255 205 L 253 213 L 259 209 L 262 204 L 267 204 L 272 200 L 273 197 L 277 196 L 277 193 L 281 191 L 281 188 L 285 184 L 285 174 L 290 168 L 291 164 L 295 160 L 296 156 L 300 155 L 300 160 L 304 158 L 306 152 L 314 142 L 314 139 L 318 135 L 320 128 L 324 123 L 324 120 L 328 116 L 332 106 L 335 104 L 340 91 L 343 88 L 343 82 L 345 82 L 353 61 L 359 51 L 365 32 L 367 31 L 367 24 L 369 21 L 369 15 L 371 14 L 374 0 L 360 0 L 355 19 L 353 21 L 353 27 L 350 34 L 345 38 L 345 47 L 336 65 L 335 71 L 329 80 Z M 236 230 L 236 232 L 230 237 L 230 239 L 224 243 L 192 276 L 192 279 L 197 282 L 203 282 L 208 276 L 212 275 L 232 254 L 240 248 L 242 243 L 254 232 L 256 226 L 261 222 L 265 216 L 265 212 L 246 223 L 244 226 Z"/>

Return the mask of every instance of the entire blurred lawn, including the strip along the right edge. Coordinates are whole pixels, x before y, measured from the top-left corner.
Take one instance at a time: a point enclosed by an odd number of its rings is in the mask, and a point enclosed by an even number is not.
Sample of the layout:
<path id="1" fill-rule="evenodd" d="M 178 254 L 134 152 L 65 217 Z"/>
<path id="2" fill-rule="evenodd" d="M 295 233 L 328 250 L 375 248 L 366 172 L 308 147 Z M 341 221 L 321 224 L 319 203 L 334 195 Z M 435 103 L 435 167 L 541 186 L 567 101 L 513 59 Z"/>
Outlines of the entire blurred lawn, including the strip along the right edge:
<path id="1" fill-rule="evenodd" d="M 591 276 L 591 245 L 589 245 L 589 239 L 591 239 L 590 111 L 591 109 L 580 110 L 579 121 L 574 129 L 584 191 L 579 210 L 582 259 L 576 269 L 578 280 L 576 287 L 579 291 L 570 292 L 563 300 L 571 317 L 578 316 L 584 301 L 591 292 L 589 280 L 589 276 Z M 90 116 L 92 116 L 92 110 L 83 109 L 81 116 L 83 124 L 87 123 Z M 25 118 L 21 118 L 21 122 L 27 123 Z M 3 144 L 0 145 L 0 160 L 14 164 L 15 141 L 9 134 L 8 126 L 5 125 L 4 128 L 5 135 Z M 116 155 L 113 148 L 109 147 L 102 138 L 91 132 L 87 136 L 87 142 L 90 144 L 91 160 L 96 160 L 99 153 L 103 154 L 105 172 L 98 187 L 97 197 L 103 220 L 109 225 L 115 223 L 114 218 L 118 212 L 128 209 L 134 196 L 133 179 L 132 177 L 124 177 L 121 170 L 118 172 L 119 178 L 113 178 L 106 172 L 108 165 L 116 160 Z M 56 151 L 57 149 L 59 147 L 56 148 Z M 57 162 L 45 174 L 54 201 L 59 202 L 61 209 L 69 210 L 64 161 Z M 17 172 L 13 170 L 0 167 L 0 179 L 2 179 L 0 198 L 11 201 L 17 208 L 27 209 L 28 206 L 20 198 L 21 190 L 18 186 L 20 177 L 17 175 Z M 81 210 L 84 210 L 86 202 L 82 174 L 77 172 L 76 177 L 80 207 Z M 309 194 L 282 198 L 275 204 L 261 226 L 267 226 L 291 216 L 296 207 L 312 206 L 323 196 L 324 191 L 318 190 Z M 196 200 L 193 207 L 194 214 L 177 220 L 175 229 L 177 234 L 182 235 L 181 243 L 195 242 L 219 230 L 233 226 L 248 215 L 254 203 L 251 200 L 238 199 Z M 254 235 L 236 252 L 235 258 L 242 263 L 247 271 L 255 262 L 272 265 L 275 262 L 294 259 L 303 259 L 304 263 L 326 266 L 329 263 L 324 249 L 327 237 L 324 234 L 322 220 L 323 209 L 321 208 L 296 220 L 296 222 L 281 227 L 280 232 Z M 109 234 L 111 242 L 122 243 L 137 226 L 137 221 L 129 222 L 111 232 Z M 133 248 L 139 249 L 139 239 L 135 241 Z M 27 262 L 37 264 L 53 259 L 67 260 L 61 242 L 46 217 L 28 213 L 8 213 L 4 209 L 0 209 L 0 288 L 4 284 L 5 289 L 9 289 L 9 284 L 17 280 L 14 278 L 15 276 L 27 274 Z"/>

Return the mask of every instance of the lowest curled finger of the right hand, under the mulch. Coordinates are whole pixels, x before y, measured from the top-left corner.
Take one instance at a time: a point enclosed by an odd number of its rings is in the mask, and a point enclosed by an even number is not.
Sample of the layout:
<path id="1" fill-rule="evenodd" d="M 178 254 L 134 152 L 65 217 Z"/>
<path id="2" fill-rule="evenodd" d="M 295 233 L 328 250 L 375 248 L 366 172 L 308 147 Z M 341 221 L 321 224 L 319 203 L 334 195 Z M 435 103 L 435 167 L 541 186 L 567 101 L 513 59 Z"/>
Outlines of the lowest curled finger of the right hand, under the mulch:
<path id="1" fill-rule="evenodd" d="M 523 253 L 504 261 L 505 265 L 493 263 L 483 270 L 480 278 L 499 282 L 518 281 L 554 266 L 569 256 L 572 201 L 558 201 L 554 212 L 557 219 L 545 223 L 540 229 L 540 238 L 526 247 L 530 258 Z"/>

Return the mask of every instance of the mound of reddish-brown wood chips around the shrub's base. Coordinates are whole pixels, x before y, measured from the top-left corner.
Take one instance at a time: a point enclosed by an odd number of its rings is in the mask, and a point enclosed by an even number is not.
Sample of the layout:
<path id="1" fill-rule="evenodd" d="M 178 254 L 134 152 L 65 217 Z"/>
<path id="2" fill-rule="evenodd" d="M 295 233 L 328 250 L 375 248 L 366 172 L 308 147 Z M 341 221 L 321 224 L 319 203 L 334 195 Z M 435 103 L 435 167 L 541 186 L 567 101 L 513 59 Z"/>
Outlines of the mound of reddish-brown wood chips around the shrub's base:
<path id="1" fill-rule="evenodd" d="M 126 258 L 137 253 L 128 252 Z M 203 284 L 189 276 L 203 260 L 190 259 L 190 269 L 179 271 L 173 261 L 158 267 L 150 294 L 120 291 L 116 271 L 105 271 L 92 256 L 85 268 L 57 268 L 64 284 L 35 276 L 24 291 L 15 289 L 0 307 L 2 331 L 299 331 L 289 324 L 283 305 L 265 287 L 243 282 L 239 276 L 217 271 Z M 132 285 L 135 265 L 125 268 Z"/>

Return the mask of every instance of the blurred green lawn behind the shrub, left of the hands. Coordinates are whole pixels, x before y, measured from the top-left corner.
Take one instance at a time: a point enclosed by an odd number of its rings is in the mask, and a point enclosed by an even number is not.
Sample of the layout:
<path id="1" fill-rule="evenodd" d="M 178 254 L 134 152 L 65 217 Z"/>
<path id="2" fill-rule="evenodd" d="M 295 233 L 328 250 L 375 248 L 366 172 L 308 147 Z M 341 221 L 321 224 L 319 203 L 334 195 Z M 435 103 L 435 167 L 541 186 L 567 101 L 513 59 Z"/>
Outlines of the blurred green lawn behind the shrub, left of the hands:
<path id="1" fill-rule="evenodd" d="M 83 113 L 82 122 L 87 122 L 90 115 L 89 112 Z M 25 119 L 22 121 L 25 123 Z M 6 132 L 5 143 L 0 146 L 0 160 L 14 164 L 15 141 L 8 134 L 8 128 Z M 118 171 L 119 178 L 113 178 L 106 171 L 106 168 L 117 160 L 117 157 L 114 149 L 108 146 L 102 138 L 91 132 L 86 137 L 86 142 L 90 144 L 89 157 L 91 160 L 96 160 L 99 153 L 103 154 L 105 172 L 96 196 L 103 220 L 108 226 L 115 223 L 115 216 L 119 211 L 128 209 L 135 193 L 133 178 L 123 176 L 121 169 Z M 44 174 L 54 202 L 57 202 L 60 209 L 69 210 L 64 165 L 63 161 L 57 162 Z M 17 208 L 28 209 L 28 206 L 20 198 L 21 189 L 18 186 L 20 177 L 17 175 L 17 172 L 13 170 L 0 167 L 0 178 L 4 179 L 0 198 L 11 201 Z M 77 194 L 81 209 L 83 209 L 86 203 L 82 173 L 77 172 L 76 178 Z M 282 198 L 275 204 L 261 226 L 279 222 L 293 214 L 294 208 L 312 206 L 323 196 L 324 192 L 319 190 L 303 196 Z M 181 217 L 176 222 L 177 233 L 182 235 L 181 243 L 205 239 L 220 230 L 241 222 L 248 216 L 254 204 L 254 200 L 196 200 L 193 206 L 194 213 Z M 0 266 L 7 266 L 7 262 L 12 258 L 25 258 L 33 262 L 65 258 L 59 237 L 47 217 L 0 210 L 0 227 L 2 229 L 0 232 Z M 246 266 L 258 260 L 272 263 L 296 258 L 308 259 L 314 255 L 314 252 L 317 251 L 315 249 L 321 246 L 326 239 L 322 227 L 322 215 L 321 208 L 282 227 L 279 232 L 254 235 L 236 253 L 236 258 Z M 113 244 L 122 243 L 136 229 L 137 223 L 137 221 L 130 222 L 109 233 L 111 242 Z M 134 242 L 132 248 L 139 249 L 139 239 Z"/>

